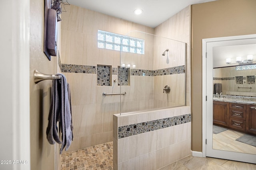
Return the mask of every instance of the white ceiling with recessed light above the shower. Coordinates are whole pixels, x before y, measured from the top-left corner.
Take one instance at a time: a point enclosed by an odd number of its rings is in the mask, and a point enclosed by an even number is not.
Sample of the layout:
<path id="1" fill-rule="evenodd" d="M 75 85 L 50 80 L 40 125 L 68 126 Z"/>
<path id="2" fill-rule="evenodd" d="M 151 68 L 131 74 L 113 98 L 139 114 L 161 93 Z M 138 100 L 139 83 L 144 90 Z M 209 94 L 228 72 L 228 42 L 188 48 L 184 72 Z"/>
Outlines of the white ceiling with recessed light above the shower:
<path id="1" fill-rule="evenodd" d="M 149 27 L 160 23 L 191 4 L 214 0 L 68 0 L 70 4 Z M 143 13 L 135 15 L 135 9 Z"/>

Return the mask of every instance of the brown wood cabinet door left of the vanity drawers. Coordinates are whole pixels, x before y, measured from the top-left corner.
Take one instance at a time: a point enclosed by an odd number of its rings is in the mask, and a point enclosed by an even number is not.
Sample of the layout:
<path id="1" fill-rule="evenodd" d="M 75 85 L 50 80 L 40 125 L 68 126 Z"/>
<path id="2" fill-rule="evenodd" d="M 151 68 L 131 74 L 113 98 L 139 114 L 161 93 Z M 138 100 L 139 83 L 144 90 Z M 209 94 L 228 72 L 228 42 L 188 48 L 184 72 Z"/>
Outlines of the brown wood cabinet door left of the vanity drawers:
<path id="1" fill-rule="evenodd" d="M 213 123 L 228 127 L 229 103 L 213 101 Z"/>

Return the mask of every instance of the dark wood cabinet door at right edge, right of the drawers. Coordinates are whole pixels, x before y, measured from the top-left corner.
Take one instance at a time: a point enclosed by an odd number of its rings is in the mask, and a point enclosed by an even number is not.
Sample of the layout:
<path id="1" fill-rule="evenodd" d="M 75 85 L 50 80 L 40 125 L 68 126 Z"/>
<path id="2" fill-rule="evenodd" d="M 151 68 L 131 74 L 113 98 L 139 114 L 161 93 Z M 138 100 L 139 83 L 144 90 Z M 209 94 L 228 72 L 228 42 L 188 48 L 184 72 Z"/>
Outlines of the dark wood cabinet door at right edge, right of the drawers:
<path id="1" fill-rule="evenodd" d="M 256 106 L 247 105 L 246 132 L 256 134 Z"/>

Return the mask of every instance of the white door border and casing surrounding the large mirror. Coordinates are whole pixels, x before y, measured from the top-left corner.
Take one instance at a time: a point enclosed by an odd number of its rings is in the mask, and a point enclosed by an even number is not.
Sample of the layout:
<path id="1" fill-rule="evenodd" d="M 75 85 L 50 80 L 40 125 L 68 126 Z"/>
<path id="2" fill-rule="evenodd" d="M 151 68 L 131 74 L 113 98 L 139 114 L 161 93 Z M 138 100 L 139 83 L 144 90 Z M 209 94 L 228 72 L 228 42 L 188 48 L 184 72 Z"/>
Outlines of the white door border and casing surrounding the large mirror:
<path id="1" fill-rule="evenodd" d="M 235 37 L 221 37 L 212 39 L 203 39 L 203 59 L 202 59 L 202 84 L 203 84 L 203 156 L 222 158 L 227 160 L 236 160 L 242 162 L 256 163 L 255 154 L 248 154 L 237 152 L 232 149 L 214 149 L 213 140 L 213 68 L 235 66 L 238 63 L 233 62 L 226 64 L 226 58 L 238 57 L 238 56 L 226 56 L 220 59 L 214 59 L 215 49 L 221 49 L 222 47 L 242 47 L 246 45 L 256 45 L 256 35 L 244 35 Z M 232 49 L 231 48 L 231 49 Z M 233 48 L 234 49 L 234 48 Z M 233 51 L 241 51 L 239 48 Z M 220 55 L 220 54 L 219 54 Z M 254 57 L 256 54 L 254 54 Z M 255 59 L 256 60 L 256 59 Z M 254 62 L 255 62 L 254 60 Z M 255 62 L 256 64 L 256 62 Z M 255 71 L 256 72 L 256 71 Z M 255 84 L 254 84 L 255 86 Z M 207 143 L 207 144 L 206 144 Z"/>

